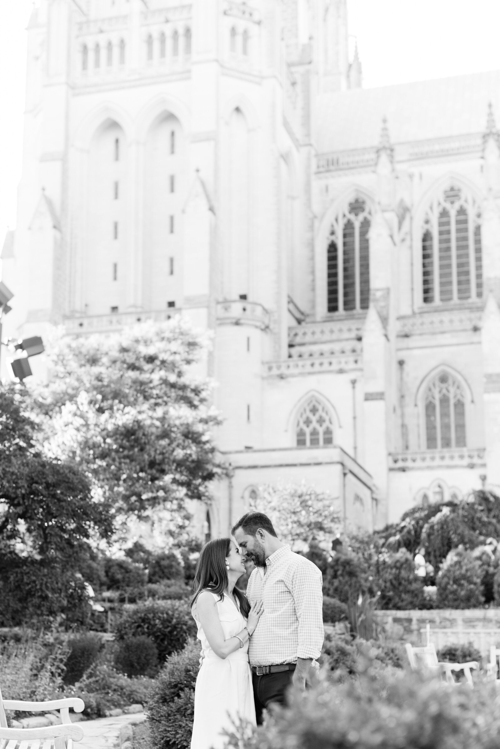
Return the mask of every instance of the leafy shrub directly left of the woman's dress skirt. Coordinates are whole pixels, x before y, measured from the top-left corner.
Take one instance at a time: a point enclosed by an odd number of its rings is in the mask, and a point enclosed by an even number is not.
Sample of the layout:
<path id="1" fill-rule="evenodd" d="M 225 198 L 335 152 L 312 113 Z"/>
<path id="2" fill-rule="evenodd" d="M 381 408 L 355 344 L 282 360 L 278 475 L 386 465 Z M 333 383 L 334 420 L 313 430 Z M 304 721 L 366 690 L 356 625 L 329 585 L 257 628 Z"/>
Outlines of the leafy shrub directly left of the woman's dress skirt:
<path id="1" fill-rule="evenodd" d="M 156 749 L 189 749 L 195 715 L 195 683 L 200 646 L 189 640 L 171 655 L 150 694 L 148 718 L 151 746 Z"/>

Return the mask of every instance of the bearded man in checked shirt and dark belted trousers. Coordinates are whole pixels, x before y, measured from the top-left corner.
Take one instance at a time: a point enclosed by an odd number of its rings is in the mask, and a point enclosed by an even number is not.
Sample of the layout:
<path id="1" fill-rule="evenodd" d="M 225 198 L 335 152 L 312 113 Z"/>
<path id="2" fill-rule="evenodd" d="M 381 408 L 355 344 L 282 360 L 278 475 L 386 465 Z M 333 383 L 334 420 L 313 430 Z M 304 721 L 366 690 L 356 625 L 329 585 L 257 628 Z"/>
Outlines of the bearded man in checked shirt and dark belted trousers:
<path id="1" fill-rule="evenodd" d="M 323 577 L 305 557 L 279 541 L 261 512 L 247 512 L 232 530 L 246 560 L 254 562 L 246 595 L 263 601 L 263 615 L 250 638 L 249 660 L 257 724 L 270 703 L 284 703 L 290 681 L 305 689 L 323 637 Z"/>

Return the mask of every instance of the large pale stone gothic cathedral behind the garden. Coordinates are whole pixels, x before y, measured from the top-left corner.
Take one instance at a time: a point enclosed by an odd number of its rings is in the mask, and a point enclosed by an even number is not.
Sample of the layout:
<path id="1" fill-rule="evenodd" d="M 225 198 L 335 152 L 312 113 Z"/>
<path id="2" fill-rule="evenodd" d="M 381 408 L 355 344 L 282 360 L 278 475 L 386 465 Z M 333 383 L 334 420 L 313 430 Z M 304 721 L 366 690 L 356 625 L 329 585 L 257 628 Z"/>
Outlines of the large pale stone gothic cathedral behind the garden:
<path id="1" fill-rule="evenodd" d="M 210 331 L 231 476 L 198 533 L 263 484 L 366 530 L 500 485 L 500 71 L 364 90 L 346 1 L 39 0 L 28 25 L 4 332 Z"/>

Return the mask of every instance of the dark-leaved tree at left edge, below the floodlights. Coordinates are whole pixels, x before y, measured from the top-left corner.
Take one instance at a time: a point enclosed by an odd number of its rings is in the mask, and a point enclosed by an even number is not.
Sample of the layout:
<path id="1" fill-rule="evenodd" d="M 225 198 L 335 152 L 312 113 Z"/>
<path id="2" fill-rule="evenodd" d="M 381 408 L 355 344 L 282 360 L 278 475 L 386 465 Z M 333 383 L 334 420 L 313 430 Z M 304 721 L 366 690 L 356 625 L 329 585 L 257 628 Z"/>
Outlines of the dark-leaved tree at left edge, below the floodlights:
<path id="1" fill-rule="evenodd" d="M 85 605 L 80 574 L 112 518 L 78 466 L 47 458 L 16 390 L 0 390 L 0 622 L 52 618 Z"/>

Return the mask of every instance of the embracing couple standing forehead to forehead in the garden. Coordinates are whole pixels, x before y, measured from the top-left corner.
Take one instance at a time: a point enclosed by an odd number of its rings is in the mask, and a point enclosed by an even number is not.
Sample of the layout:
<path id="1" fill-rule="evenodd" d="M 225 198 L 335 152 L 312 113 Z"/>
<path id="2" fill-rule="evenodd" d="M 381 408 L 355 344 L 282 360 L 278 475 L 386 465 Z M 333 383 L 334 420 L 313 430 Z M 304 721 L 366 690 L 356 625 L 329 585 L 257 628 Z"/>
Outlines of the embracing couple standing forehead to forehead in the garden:
<path id="1" fill-rule="evenodd" d="M 231 539 L 204 546 L 195 574 L 192 615 L 202 664 L 196 679 L 191 749 L 222 749 L 223 730 L 240 719 L 261 724 L 284 703 L 290 684 L 305 689 L 323 645 L 320 570 L 294 554 L 260 512 L 249 512 Z M 246 595 L 236 587 L 254 562 Z"/>

